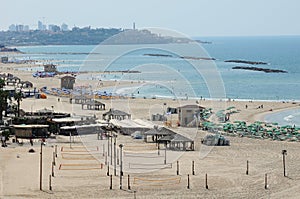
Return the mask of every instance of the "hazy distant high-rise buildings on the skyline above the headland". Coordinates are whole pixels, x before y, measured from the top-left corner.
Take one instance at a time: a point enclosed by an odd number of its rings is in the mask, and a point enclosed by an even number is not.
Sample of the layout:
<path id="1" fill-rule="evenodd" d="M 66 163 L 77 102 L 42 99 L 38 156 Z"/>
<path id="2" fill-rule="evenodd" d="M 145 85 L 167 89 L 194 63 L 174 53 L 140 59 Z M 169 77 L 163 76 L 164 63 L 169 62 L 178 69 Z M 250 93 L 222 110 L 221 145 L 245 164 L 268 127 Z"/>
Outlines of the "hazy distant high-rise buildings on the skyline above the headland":
<path id="1" fill-rule="evenodd" d="M 30 31 L 31 29 L 30 29 L 29 25 L 11 24 L 8 27 L 8 30 L 12 31 L 12 32 L 26 32 L 26 31 Z M 46 24 L 44 24 L 41 21 L 38 21 L 37 29 L 36 30 L 59 32 L 59 31 L 68 31 L 69 27 L 65 23 L 63 23 L 60 26 L 59 25 L 55 25 L 55 24 L 49 24 L 48 27 L 47 27 Z"/>

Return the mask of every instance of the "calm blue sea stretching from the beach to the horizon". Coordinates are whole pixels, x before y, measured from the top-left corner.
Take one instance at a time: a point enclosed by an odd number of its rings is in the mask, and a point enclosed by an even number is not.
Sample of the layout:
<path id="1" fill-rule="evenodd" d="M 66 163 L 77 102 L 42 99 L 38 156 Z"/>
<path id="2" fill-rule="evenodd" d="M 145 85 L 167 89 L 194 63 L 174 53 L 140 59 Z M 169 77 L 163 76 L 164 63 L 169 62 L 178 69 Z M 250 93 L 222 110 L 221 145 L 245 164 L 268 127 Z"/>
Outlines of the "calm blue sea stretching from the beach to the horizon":
<path id="1" fill-rule="evenodd" d="M 131 81 L 132 86 L 105 92 L 135 97 L 225 98 L 300 101 L 300 36 L 195 37 L 193 44 L 24 46 L 15 60 L 53 63 L 62 72 L 79 72 L 78 80 Z M 212 59 L 213 58 L 213 59 Z M 265 65 L 225 62 L 245 60 Z M 284 70 L 265 73 L 235 70 L 249 66 Z M 43 70 L 37 63 L 21 70 Z M 94 71 L 94 75 L 86 75 Z M 97 73 L 106 71 L 106 73 Z M 99 87 L 99 92 L 103 92 Z M 280 112 L 274 122 L 300 124 L 300 109 Z M 279 115 L 278 115 L 279 114 Z M 280 118 L 280 121 L 278 120 Z M 285 119 L 284 119 L 285 118 Z M 275 119 L 274 119 L 275 120 Z"/>

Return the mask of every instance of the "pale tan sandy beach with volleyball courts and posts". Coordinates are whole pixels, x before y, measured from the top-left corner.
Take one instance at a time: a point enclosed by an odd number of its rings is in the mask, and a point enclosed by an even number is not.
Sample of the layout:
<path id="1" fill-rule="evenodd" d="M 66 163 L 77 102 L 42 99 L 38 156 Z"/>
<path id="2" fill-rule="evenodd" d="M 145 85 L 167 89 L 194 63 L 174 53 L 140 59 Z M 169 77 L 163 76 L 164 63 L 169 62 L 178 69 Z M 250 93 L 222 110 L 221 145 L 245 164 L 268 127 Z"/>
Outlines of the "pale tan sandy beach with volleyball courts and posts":
<path id="1" fill-rule="evenodd" d="M 25 65 L 26 66 L 26 65 Z M 32 72 L 17 70 L 24 67 L 14 64 L 0 65 L 1 72 L 28 80 L 34 87 L 60 87 L 60 76 L 54 78 L 34 78 Z M 91 82 L 90 82 L 91 83 Z M 93 82 L 91 83 L 93 84 Z M 102 87 L 114 86 L 116 82 L 103 82 Z M 117 84 L 131 84 L 117 82 Z M 70 104 L 68 98 L 48 95 L 47 99 L 23 99 L 21 108 L 34 112 L 43 108 L 55 112 L 67 112 L 76 115 L 97 116 L 110 108 L 129 112 L 132 119 L 149 120 L 152 114 L 162 113 L 164 104 L 168 107 L 179 107 L 196 104 L 196 100 L 172 99 L 113 99 L 102 100 L 106 110 L 82 110 L 81 105 Z M 263 121 L 266 114 L 287 109 L 299 108 L 300 103 L 271 101 L 198 101 L 200 106 L 210 107 L 213 111 L 234 106 L 238 113 L 232 114 L 230 121 L 242 120 L 247 123 Z M 258 108 L 263 104 L 263 108 Z M 247 105 L 247 108 L 246 108 Z M 177 118 L 169 118 L 176 120 Z M 160 125 L 164 125 L 161 123 Z M 107 165 L 103 150 L 106 140 L 97 140 L 96 135 L 78 136 L 70 148 L 69 137 L 56 136 L 46 140 L 43 146 L 43 191 L 39 190 L 40 141 L 30 146 L 24 140 L 19 146 L 9 143 L 0 148 L 0 198 L 298 198 L 300 194 L 300 156 L 299 142 L 273 141 L 270 139 L 251 139 L 228 136 L 230 146 L 209 147 L 201 145 L 201 138 L 208 134 L 196 128 L 172 127 L 175 132 L 183 132 L 195 140 L 195 151 L 167 152 L 167 163 L 170 168 L 157 169 L 141 173 L 126 172 L 129 158 L 124 157 L 124 176 L 120 190 L 120 176 L 113 175 L 113 186 L 110 189 L 110 177 L 107 176 Z M 124 144 L 127 152 L 152 152 L 155 146 L 144 144 L 129 136 L 118 135 L 117 145 Z M 127 148 L 126 148 L 127 146 Z M 49 175 L 55 147 L 58 149 L 52 190 L 49 190 Z M 135 148 L 136 147 L 136 148 Z M 28 150 L 33 148 L 34 153 Z M 150 148 L 150 149 L 149 149 Z M 286 172 L 283 176 L 282 150 L 287 150 Z M 207 153 L 209 151 L 209 153 Z M 162 152 L 163 153 L 163 152 Z M 203 157 L 203 154 L 204 157 Z M 72 157 L 72 158 L 68 158 Z M 179 175 L 177 175 L 177 160 Z M 126 162 L 127 161 L 127 162 Z M 153 162 L 161 163 L 157 158 Z M 192 175 L 192 161 L 195 164 L 195 175 Z M 249 161 L 249 174 L 246 165 Z M 119 165 L 118 165 L 119 167 Z M 208 176 L 208 189 L 205 187 L 205 175 Z M 267 189 L 265 175 L 267 174 Z M 130 175 L 130 189 L 128 187 Z M 188 186 L 189 175 L 189 188 Z"/>

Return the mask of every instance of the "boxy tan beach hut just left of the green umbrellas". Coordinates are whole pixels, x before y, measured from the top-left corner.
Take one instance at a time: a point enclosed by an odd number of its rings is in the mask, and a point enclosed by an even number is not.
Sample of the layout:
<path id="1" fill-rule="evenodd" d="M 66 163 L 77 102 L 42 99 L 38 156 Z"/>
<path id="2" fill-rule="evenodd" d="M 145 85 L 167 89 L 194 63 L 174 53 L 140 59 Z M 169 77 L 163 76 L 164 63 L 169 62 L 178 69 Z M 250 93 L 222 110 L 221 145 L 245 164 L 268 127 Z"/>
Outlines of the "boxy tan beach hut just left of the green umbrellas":
<path id="1" fill-rule="evenodd" d="M 178 119 L 180 126 L 195 127 L 198 125 L 199 113 L 205 108 L 198 105 L 185 105 L 178 108 Z"/>

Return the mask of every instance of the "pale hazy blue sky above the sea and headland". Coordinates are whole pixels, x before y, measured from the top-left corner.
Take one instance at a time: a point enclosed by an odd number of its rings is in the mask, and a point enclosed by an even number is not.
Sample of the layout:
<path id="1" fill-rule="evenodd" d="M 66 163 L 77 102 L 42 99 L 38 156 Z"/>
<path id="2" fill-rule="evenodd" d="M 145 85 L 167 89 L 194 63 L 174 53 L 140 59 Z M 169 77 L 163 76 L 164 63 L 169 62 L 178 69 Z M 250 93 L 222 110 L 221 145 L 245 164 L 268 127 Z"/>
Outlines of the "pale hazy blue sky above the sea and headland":
<path id="1" fill-rule="evenodd" d="M 299 0 L 1 0 L 11 24 L 92 28 L 159 27 L 194 36 L 300 35 Z"/>

